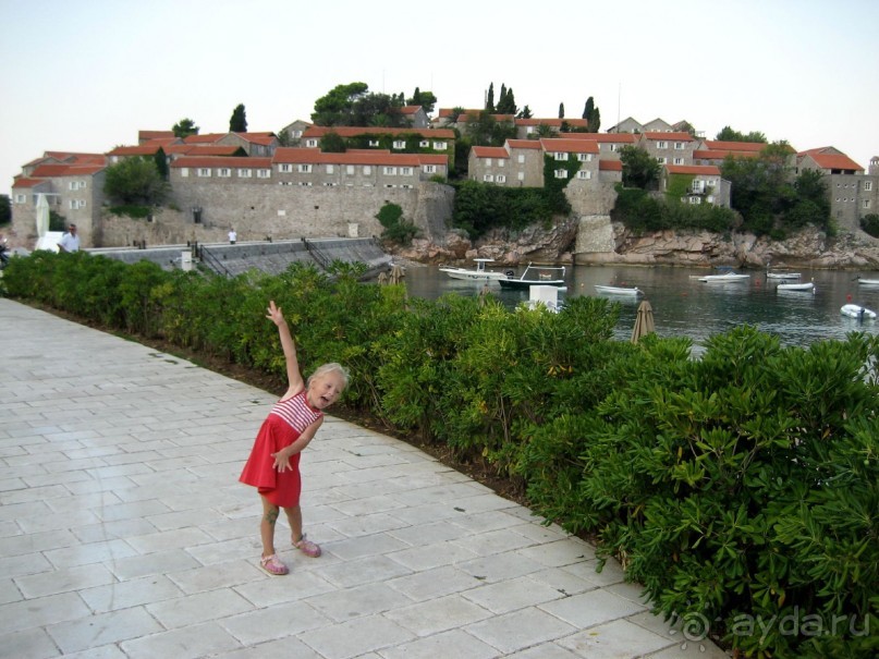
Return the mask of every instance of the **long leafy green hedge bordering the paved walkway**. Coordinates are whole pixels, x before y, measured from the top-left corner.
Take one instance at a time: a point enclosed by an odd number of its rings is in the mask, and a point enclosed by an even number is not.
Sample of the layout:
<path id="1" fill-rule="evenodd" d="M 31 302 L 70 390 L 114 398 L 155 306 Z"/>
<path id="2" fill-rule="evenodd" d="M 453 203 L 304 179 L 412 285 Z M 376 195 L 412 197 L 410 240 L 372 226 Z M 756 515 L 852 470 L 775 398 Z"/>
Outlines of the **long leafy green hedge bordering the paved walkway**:
<path id="1" fill-rule="evenodd" d="M 686 638 L 745 657 L 879 651 L 879 339 L 782 347 L 742 327 L 612 340 L 619 307 L 408 300 L 312 267 L 234 279 L 86 253 L 15 258 L 12 297 L 283 375 L 267 301 L 303 368 L 339 361 L 345 403 L 517 481 L 599 541 Z M 356 312 L 352 312 L 356 309 Z"/>

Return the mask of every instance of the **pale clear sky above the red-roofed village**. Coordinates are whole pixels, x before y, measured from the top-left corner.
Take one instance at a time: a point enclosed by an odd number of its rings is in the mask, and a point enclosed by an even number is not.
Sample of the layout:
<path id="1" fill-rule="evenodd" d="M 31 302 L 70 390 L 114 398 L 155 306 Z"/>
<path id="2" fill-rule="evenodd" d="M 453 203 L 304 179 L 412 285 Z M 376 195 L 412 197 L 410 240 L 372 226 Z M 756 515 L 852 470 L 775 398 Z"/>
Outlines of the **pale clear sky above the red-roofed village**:
<path id="1" fill-rule="evenodd" d="M 876 0 L 0 0 L 0 194 L 44 151 L 107 152 L 193 119 L 310 120 L 340 84 L 480 108 L 489 84 L 536 118 L 601 131 L 687 120 L 797 150 L 879 156 Z"/>

